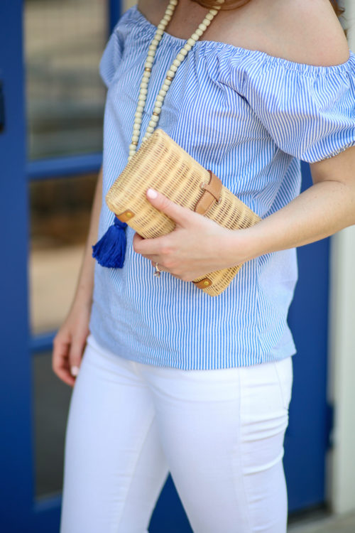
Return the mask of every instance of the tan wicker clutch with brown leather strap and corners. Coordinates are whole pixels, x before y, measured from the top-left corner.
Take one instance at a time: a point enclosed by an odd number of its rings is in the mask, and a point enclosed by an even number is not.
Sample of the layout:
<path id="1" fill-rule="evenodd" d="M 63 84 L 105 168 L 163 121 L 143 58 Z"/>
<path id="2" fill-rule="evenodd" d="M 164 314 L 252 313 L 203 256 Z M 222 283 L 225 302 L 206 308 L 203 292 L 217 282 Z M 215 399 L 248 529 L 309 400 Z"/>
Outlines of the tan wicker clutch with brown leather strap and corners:
<path id="1" fill-rule="evenodd" d="M 146 199 L 152 187 L 173 202 L 237 230 L 260 219 L 162 129 L 143 142 L 106 195 L 109 209 L 144 238 L 170 233 L 175 222 Z M 241 265 L 207 273 L 193 283 L 210 296 L 221 294 Z"/>

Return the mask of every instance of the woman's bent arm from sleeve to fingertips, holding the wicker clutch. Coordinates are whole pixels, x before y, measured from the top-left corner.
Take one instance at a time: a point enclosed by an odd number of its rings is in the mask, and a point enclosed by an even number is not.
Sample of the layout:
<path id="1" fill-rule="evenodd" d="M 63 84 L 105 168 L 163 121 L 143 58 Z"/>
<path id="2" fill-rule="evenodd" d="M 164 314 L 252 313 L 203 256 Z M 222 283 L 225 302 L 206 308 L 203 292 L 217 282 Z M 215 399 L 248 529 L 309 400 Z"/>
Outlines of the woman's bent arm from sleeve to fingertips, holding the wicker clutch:
<path id="1" fill-rule="evenodd" d="M 133 249 L 161 270 L 192 281 L 262 254 L 302 246 L 355 224 L 355 147 L 312 163 L 314 185 L 258 224 L 226 230 L 158 193 L 152 205 L 171 217 L 173 232 L 157 239 L 133 237 Z"/>

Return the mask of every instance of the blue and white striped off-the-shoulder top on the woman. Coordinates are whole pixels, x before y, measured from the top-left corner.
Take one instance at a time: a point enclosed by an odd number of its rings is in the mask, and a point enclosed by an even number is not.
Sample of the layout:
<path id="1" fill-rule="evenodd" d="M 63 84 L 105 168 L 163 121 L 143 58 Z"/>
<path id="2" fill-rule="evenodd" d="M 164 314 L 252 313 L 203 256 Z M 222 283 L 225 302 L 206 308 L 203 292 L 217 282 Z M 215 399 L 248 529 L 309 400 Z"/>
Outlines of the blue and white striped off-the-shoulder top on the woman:
<path id="1" fill-rule="evenodd" d="M 99 237 L 113 223 L 104 196 L 126 166 L 148 46 L 156 27 L 137 6 L 116 24 L 102 55 L 107 85 Z M 143 112 L 143 139 L 165 74 L 185 40 L 164 33 Z M 158 126 L 261 217 L 300 193 L 300 160 L 355 144 L 355 55 L 341 65 L 294 63 L 218 41 L 197 41 L 165 96 Z M 95 266 L 89 329 L 102 347 L 136 362 L 211 370 L 280 360 L 296 352 L 287 315 L 297 281 L 295 249 L 244 264 L 208 296 L 134 252 L 124 266 Z"/>

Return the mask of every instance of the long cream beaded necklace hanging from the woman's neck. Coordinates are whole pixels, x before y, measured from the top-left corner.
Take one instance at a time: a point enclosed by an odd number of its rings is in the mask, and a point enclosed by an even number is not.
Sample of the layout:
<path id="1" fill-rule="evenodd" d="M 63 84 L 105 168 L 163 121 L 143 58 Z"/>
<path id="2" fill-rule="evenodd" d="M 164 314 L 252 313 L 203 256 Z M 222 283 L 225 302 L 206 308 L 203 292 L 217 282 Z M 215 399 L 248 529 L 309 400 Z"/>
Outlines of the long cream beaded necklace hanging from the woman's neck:
<path id="1" fill-rule="evenodd" d="M 224 3 L 224 0 L 216 0 L 216 1 L 217 1 L 217 4 Z M 148 87 L 149 78 L 151 77 L 151 70 L 153 66 L 155 51 L 158 48 L 158 44 L 163 36 L 165 27 L 170 22 L 170 19 L 173 16 L 175 7 L 178 5 L 178 3 L 179 3 L 178 0 L 170 0 L 168 7 L 165 9 L 165 14 L 157 26 L 157 30 L 155 31 L 154 38 L 151 41 L 151 44 L 149 45 L 148 55 L 147 55 L 146 63 L 144 65 L 143 77 L 141 80 L 138 104 L 136 108 L 136 113 L 134 115 L 133 135 L 131 139 L 131 144 L 129 146 L 129 158 L 128 158 L 129 160 L 136 153 L 139 136 L 141 134 L 142 115 L 143 115 L 144 107 L 146 106 L 146 97 L 147 97 L 147 92 L 148 92 L 147 87 Z M 207 15 L 204 17 L 204 20 L 202 21 L 202 23 L 199 24 L 199 26 L 194 31 L 194 33 L 192 33 L 192 36 L 189 39 L 187 39 L 187 42 L 181 48 L 175 60 L 173 60 L 173 63 L 170 65 L 170 68 L 168 72 L 166 73 L 163 85 L 160 91 L 158 92 L 158 96 L 155 99 L 153 114 L 151 116 L 151 120 L 148 123 L 146 134 L 143 136 L 142 142 L 146 141 L 146 139 L 148 139 L 148 137 L 151 136 L 155 127 L 158 124 L 159 114 L 161 112 L 161 108 L 163 107 L 164 98 L 170 87 L 171 82 L 173 81 L 175 72 L 178 70 L 178 67 L 180 66 L 182 61 L 185 59 L 185 56 L 191 50 L 192 46 L 195 45 L 196 41 L 198 41 L 198 39 L 202 36 L 202 33 L 204 33 L 204 31 L 207 30 L 207 26 L 209 26 L 209 24 L 212 22 L 214 17 L 217 15 L 217 13 L 219 12 L 219 9 L 221 9 L 220 6 L 216 6 L 215 9 L 209 9 L 209 13 L 207 13 Z"/>

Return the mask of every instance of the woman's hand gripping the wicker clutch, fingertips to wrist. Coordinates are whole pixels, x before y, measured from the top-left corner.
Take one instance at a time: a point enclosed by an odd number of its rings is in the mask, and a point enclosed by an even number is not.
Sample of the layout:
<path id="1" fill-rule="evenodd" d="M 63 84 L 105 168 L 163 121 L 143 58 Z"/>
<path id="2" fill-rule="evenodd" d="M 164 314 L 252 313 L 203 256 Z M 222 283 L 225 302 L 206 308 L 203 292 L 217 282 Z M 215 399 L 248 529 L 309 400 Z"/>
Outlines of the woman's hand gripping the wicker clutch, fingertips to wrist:
<path id="1" fill-rule="evenodd" d="M 133 249 L 152 265 L 182 281 L 192 281 L 209 272 L 241 264 L 248 259 L 245 232 L 226 230 L 190 209 L 182 208 L 163 194 L 148 189 L 151 204 L 174 220 L 175 229 L 156 239 L 133 236 Z"/>

